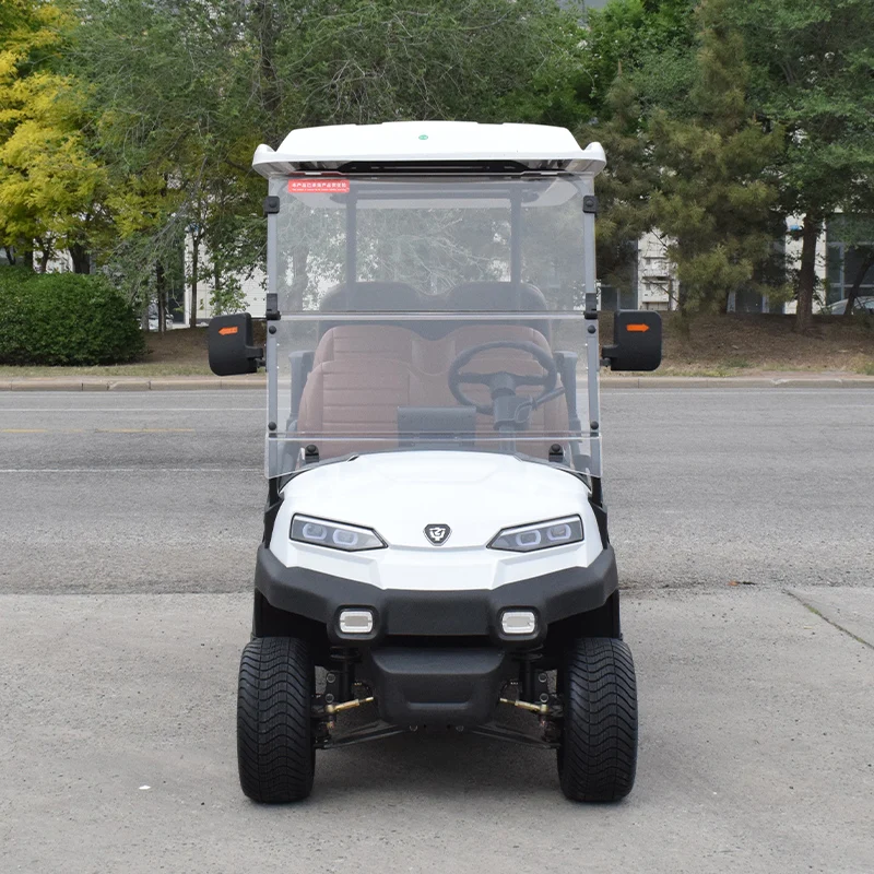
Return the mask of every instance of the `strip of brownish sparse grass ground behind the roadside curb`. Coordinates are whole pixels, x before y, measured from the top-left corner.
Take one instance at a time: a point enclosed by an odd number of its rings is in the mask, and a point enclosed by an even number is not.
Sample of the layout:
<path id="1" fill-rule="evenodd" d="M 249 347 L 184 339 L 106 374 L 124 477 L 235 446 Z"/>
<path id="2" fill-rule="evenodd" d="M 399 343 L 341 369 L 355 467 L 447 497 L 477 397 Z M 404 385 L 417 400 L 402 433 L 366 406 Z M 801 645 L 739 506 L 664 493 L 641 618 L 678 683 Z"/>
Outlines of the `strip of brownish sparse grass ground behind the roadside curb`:
<path id="1" fill-rule="evenodd" d="M 794 316 L 706 315 L 687 323 L 663 314 L 664 357 L 660 376 L 732 377 L 779 373 L 874 376 L 874 322 L 817 316 L 810 334 L 793 331 Z M 256 342 L 263 324 L 256 322 Z M 604 314 L 605 342 L 613 335 L 613 317 Z M 260 334 L 260 336 L 258 335 Z M 0 377 L 172 377 L 209 376 L 206 329 L 150 333 L 142 362 L 116 367 L 9 367 Z"/>

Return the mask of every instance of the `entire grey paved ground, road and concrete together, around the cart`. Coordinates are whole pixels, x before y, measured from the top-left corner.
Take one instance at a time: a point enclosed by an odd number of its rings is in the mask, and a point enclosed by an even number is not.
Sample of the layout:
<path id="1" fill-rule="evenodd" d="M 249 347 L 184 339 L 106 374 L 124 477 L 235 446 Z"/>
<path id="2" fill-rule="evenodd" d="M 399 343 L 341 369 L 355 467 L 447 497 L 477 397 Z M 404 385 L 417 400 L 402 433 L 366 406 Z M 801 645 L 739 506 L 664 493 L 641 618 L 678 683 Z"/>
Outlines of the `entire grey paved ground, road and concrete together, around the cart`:
<path id="1" fill-rule="evenodd" d="M 874 871 L 870 392 L 605 392 L 641 709 L 613 806 L 454 733 L 246 801 L 260 400 L 0 394 L 0 872 Z"/>

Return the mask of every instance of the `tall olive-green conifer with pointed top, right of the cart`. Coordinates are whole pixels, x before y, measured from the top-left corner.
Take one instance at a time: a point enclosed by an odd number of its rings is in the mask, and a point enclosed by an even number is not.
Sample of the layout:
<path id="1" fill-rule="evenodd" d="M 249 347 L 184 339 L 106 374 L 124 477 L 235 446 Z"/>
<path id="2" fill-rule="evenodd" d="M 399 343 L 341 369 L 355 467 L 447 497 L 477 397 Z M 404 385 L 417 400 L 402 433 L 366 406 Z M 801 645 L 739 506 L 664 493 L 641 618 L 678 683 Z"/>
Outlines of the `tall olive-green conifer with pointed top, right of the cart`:
<path id="1" fill-rule="evenodd" d="M 783 138 L 747 103 L 743 38 L 724 14 L 731 1 L 698 8 L 697 75 L 684 114 L 658 108 L 650 123 L 661 177 L 653 220 L 671 238 L 683 312 L 724 310 L 729 294 L 755 287 L 781 233 L 772 168 Z"/>

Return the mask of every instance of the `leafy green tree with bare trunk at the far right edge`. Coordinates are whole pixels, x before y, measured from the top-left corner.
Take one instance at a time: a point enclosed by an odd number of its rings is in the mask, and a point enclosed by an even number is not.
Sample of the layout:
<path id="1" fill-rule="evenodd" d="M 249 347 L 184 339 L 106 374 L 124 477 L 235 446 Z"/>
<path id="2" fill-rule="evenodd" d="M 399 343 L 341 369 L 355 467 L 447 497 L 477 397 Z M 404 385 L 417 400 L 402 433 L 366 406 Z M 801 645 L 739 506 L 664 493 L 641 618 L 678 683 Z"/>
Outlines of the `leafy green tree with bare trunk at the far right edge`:
<path id="1" fill-rule="evenodd" d="M 744 37 L 754 106 L 784 131 L 778 185 L 782 209 L 803 216 L 796 329 L 806 331 L 823 224 L 858 210 L 874 179 L 874 3 L 733 0 L 727 14 Z"/>

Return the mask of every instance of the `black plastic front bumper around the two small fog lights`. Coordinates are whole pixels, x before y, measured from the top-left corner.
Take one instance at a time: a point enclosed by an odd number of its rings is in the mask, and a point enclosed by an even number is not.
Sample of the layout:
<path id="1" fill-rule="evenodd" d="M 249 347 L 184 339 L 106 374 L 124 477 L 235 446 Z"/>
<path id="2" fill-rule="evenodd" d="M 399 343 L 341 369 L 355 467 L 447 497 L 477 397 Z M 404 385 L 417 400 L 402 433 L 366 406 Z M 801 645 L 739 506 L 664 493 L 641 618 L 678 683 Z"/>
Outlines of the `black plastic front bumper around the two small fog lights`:
<path id="1" fill-rule="evenodd" d="M 379 589 L 300 567 L 285 567 L 263 544 L 258 548 L 255 586 L 279 610 L 324 625 L 340 646 L 373 647 L 386 637 L 489 637 L 499 646 L 536 643 L 552 623 L 602 606 L 618 588 L 616 558 L 607 546 L 589 567 L 532 577 L 497 589 L 421 592 Z M 374 630 L 343 635 L 336 627 L 344 607 L 368 607 Z M 528 637 L 505 636 L 500 614 L 528 609 L 538 615 L 538 630 Z"/>

